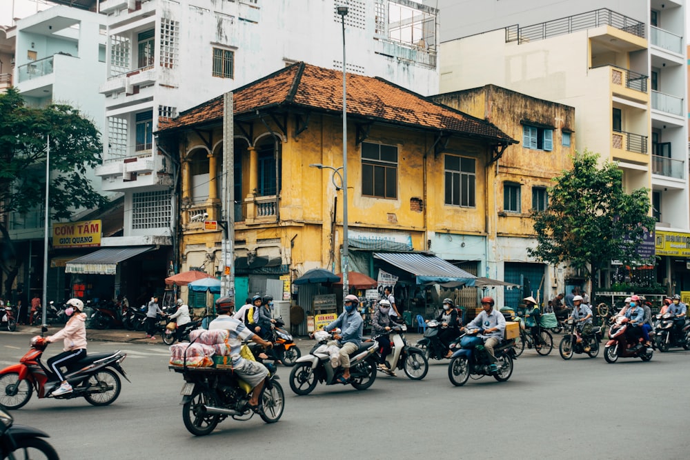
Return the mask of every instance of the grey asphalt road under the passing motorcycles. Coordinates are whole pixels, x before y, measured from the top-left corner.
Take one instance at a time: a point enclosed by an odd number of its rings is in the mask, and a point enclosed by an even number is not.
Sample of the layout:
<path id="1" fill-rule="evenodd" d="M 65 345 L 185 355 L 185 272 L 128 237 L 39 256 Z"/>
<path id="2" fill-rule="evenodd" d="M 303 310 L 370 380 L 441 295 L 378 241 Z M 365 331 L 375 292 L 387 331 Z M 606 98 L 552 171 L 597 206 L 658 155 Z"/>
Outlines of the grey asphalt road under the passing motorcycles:
<path id="1" fill-rule="evenodd" d="M 0 332 L 0 367 L 19 360 L 29 337 Z M 433 361 L 423 381 L 379 374 L 368 390 L 319 385 L 304 397 L 291 392 L 289 368 L 280 367 L 286 407 L 278 423 L 226 419 L 194 437 L 182 423 L 182 379 L 168 371 L 167 347 L 89 344 L 90 352 L 116 349 L 128 352 L 132 383 L 123 382 L 112 406 L 34 394 L 12 412 L 15 423 L 46 430 L 61 459 L 687 458 L 690 352 L 683 350 L 615 364 L 602 354 L 563 361 L 557 349 L 547 357 L 525 350 L 508 382 L 484 377 L 458 388 L 447 361 Z"/>

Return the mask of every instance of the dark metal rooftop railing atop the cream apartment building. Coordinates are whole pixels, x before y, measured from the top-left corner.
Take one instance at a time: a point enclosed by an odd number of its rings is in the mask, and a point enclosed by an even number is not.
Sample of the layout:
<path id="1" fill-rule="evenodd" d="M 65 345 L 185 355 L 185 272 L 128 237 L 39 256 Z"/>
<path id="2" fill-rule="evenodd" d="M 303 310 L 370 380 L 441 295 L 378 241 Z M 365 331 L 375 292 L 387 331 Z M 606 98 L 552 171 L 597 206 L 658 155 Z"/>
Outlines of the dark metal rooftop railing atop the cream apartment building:
<path id="1" fill-rule="evenodd" d="M 611 26 L 624 32 L 629 32 L 637 37 L 644 38 L 644 23 L 637 19 L 623 16 L 615 11 L 602 8 L 574 16 L 554 19 L 553 21 L 534 24 L 514 30 L 506 29 L 506 41 L 517 40 L 519 43 L 535 40 L 543 40 L 557 35 L 570 34 L 578 30 L 586 30 L 599 26 Z"/>

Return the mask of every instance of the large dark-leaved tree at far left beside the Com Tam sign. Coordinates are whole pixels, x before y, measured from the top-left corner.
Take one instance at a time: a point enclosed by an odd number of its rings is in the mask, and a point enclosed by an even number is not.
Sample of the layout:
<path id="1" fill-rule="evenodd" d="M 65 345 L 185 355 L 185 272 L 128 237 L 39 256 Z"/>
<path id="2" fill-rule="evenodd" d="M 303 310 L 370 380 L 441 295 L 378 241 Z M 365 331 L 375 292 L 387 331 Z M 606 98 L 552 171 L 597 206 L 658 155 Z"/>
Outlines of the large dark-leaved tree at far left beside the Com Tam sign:
<path id="1" fill-rule="evenodd" d="M 43 208 L 48 136 L 50 219 L 66 219 L 76 210 L 106 203 L 86 179 L 87 170 L 101 164 L 94 124 L 70 106 L 30 108 L 15 88 L 0 94 L 0 271 L 6 275 L 6 292 L 21 266 L 8 233 L 8 214 Z"/>

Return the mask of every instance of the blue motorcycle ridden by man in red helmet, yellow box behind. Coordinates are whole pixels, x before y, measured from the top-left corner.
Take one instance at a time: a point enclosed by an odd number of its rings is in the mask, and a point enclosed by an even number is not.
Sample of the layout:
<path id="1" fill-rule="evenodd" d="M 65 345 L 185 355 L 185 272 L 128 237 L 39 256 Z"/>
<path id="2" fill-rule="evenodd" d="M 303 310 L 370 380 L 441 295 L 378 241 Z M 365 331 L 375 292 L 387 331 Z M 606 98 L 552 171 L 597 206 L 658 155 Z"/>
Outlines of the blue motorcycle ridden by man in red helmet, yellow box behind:
<path id="1" fill-rule="evenodd" d="M 479 332 L 477 329 L 462 334 L 459 346 L 453 346 L 455 351 L 448 364 L 448 379 L 455 386 L 463 386 L 471 375 L 479 376 L 477 379 L 492 375 L 497 381 L 504 382 L 513 374 L 513 360 L 517 359 L 515 339 L 503 339 L 499 346 L 493 349 L 496 370 L 492 370 L 489 352 L 484 350 L 484 340 Z"/>

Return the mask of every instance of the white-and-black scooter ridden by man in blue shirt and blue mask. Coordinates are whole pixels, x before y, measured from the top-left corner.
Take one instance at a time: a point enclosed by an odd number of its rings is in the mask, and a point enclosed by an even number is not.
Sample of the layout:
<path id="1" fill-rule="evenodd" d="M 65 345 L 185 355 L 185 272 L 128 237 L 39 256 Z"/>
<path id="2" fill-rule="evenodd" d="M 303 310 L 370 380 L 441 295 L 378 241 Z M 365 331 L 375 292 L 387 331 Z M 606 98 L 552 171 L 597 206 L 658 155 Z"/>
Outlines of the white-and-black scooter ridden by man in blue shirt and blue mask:
<path id="1" fill-rule="evenodd" d="M 319 330 L 314 333 L 317 344 L 313 346 L 309 354 L 297 359 L 292 372 L 290 372 L 290 389 L 295 394 L 309 394 L 316 384 L 321 382 L 326 385 L 340 384 L 342 368 L 334 368 L 331 364 L 331 355 L 328 353 L 326 343 L 331 340 L 331 333 Z M 366 390 L 376 379 L 376 357 L 374 353 L 378 348 L 377 342 L 362 342 L 359 348 L 350 357 L 350 383 L 357 390 Z"/>

